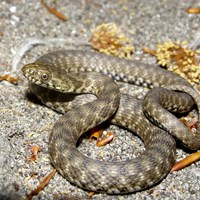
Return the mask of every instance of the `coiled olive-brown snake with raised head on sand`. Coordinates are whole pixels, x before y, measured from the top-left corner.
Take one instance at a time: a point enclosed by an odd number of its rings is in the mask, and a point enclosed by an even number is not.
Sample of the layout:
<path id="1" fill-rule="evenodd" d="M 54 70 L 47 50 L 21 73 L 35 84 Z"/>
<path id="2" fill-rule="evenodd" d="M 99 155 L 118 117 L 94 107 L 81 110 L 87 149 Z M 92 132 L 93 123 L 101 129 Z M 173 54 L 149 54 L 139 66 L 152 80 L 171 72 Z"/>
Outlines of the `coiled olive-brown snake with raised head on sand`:
<path id="1" fill-rule="evenodd" d="M 63 177 L 84 190 L 124 194 L 148 189 L 170 172 L 177 141 L 192 150 L 200 148 L 200 126 L 191 132 L 174 115 L 199 111 L 200 96 L 175 73 L 90 50 L 53 51 L 24 65 L 22 72 L 31 93 L 63 114 L 49 135 L 50 160 Z M 118 81 L 150 90 L 138 99 L 120 93 Z M 136 133 L 144 152 L 112 162 L 81 153 L 81 135 L 104 121 Z"/>

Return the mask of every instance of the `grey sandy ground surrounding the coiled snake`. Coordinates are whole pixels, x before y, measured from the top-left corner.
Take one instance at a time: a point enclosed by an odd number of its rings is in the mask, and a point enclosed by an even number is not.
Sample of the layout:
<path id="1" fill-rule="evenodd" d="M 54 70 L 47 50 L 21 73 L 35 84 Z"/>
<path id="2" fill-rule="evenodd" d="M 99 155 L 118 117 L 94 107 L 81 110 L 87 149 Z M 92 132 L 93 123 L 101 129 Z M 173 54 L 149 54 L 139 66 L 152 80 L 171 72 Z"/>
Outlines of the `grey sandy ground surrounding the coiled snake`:
<path id="1" fill-rule="evenodd" d="M 50 4 L 52 1 L 46 2 Z M 0 199 L 25 199 L 27 193 L 53 169 L 47 149 L 48 134 L 60 115 L 27 100 L 27 81 L 22 76 L 21 66 L 51 50 L 87 42 L 91 29 L 107 22 L 116 23 L 131 38 L 136 48 L 133 59 L 155 64 L 151 56 L 142 52 L 141 46 L 155 48 L 158 42 L 167 40 L 186 40 L 195 46 L 199 41 L 200 15 L 186 13 L 186 8 L 190 6 L 200 4 L 197 0 L 57 1 L 56 7 L 68 18 L 64 22 L 50 14 L 40 1 L 0 2 L 0 74 L 11 70 L 13 58 L 20 47 L 27 44 L 27 38 L 44 40 L 58 37 L 67 43 L 36 46 L 26 53 L 17 66 L 14 75 L 21 78 L 19 85 L 0 82 Z M 85 139 L 80 150 L 93 158 L 103 156 L 105 160 L 133 158 L 142 150 L 141 141 L 131 133 L 115 126 L 110 129 L 117 134 L 111 144 L 97 148 L 95 143 Z M 42 148 L 34 163 L 27 162 L 32 145 Z M 186 155 L 188 152 L 177 149 L 177 160 Z M 195 200 L 200 198 L 199 183 L 200 162 L 169 174 L 149 190 L 116 196 L 96 194 L 93 199 Z M 89 199 L 89 196 L 88 192 L 56 174 L 34 199 Z"/>

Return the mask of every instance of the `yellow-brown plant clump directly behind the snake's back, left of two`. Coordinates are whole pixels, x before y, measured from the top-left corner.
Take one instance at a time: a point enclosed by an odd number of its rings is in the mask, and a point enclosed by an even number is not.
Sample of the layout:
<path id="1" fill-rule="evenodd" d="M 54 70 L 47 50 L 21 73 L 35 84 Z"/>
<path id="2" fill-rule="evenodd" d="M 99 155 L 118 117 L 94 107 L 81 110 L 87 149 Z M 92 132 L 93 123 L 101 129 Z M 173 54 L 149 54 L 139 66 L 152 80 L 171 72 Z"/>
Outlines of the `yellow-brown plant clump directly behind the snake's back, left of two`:
<path id="1" fill-rule="evenodd" d="M 97 26 L 92 31 L 89 39 L 92 47 L 101 53 L 115 55 L 121 58 L 131 58 L 135 48 L 131 40 L 127 38 L 114 23 L 106 23 Z"/>

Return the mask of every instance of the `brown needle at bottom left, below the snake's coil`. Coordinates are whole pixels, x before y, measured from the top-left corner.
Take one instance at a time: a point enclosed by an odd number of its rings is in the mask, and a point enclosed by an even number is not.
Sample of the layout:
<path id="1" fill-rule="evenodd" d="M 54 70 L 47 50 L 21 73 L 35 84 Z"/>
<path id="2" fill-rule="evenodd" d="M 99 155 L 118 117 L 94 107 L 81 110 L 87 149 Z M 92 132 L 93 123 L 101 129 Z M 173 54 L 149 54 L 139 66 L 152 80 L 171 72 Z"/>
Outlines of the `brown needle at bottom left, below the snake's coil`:
<path id="1" fill-rule="evenodd" d="M 49 183 L 49 181 L 53 178 L 54 174 L 56 173 L 56 169 L 52 170 L 44 179 L 43 181 L 38 185 L 38 187 L 35 190 L 32 190 L 28 194 L 28 200 L 32 200 L 32 197 L 35 195 L 38 195 L 38 193 Z"/>

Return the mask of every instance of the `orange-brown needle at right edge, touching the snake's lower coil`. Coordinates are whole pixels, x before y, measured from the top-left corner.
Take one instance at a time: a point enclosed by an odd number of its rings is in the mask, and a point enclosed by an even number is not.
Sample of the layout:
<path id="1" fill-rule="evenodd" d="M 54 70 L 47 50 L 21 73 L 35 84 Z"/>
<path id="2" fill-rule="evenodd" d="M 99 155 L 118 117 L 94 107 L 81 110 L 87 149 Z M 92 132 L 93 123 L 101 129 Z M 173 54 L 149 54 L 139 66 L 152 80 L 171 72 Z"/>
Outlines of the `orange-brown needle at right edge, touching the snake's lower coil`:
<path id="1" fill-rule="evenodd" d="M 187 156 L 186 158 L 175 163 L 171 169 L 171 172 L 183 169 L 184 167 L 187 167 L 188 165 L 190 165 L 194 162 L 197 162 L 199 160 L 200 160 L 200 152 L 192 153 L 191 155 Z"/>

